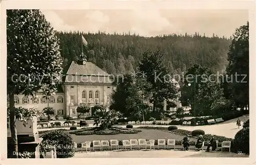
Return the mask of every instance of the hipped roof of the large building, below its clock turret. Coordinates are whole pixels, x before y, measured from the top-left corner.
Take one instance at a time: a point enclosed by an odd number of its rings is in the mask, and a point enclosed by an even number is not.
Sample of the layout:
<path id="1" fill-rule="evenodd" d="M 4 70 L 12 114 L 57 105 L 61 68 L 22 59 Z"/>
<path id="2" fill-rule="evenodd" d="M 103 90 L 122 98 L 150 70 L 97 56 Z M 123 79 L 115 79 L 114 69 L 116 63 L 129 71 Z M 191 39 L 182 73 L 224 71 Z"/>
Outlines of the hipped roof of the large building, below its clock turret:
<path id="1" fill-rule="evenodd" d="M 80 65 L 72 61 L 66 74 L 65 83 L 111 83 L 110 75 L 92 62 Z"/>

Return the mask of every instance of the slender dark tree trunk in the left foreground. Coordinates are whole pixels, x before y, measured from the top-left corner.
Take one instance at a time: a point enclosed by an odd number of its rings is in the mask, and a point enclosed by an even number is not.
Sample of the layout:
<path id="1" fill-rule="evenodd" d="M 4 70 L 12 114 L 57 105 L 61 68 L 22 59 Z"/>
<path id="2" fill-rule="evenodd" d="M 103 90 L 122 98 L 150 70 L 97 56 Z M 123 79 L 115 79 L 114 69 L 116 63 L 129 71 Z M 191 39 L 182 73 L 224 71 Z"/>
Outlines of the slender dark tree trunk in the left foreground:
<path id="1" fill-rule="evenodd" d="M 11 156 L 12 158 L 18 158 L 18 140 L 16 130 L 16 117 L 15 117 L 15 106 L 14 106 L 14 94 L 10 94 L 10 130 L 11 130 Z M 16 153 L 16 154 L 15 154 Z"/>

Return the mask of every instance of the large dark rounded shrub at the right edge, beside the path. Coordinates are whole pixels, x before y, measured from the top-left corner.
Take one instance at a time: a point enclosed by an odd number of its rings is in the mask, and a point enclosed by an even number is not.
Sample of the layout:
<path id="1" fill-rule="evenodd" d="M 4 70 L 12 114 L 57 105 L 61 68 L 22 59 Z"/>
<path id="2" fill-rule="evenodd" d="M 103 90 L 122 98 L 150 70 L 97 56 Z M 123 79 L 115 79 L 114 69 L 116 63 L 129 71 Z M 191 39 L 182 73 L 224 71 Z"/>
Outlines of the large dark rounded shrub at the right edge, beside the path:
<path id="1" fill-rule="evenodd" d="M 243 128 L 234 136 L 234 151 L 249 154 L 249 127 Z"/>

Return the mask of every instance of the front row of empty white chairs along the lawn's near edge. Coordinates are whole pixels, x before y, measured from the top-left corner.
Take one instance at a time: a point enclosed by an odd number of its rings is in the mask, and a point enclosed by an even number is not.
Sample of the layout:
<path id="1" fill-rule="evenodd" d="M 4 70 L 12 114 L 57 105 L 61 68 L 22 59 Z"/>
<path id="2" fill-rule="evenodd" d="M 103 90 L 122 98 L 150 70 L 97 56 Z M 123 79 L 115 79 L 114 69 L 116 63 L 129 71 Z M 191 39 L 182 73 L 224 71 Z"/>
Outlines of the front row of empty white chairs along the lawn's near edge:
<path id="1" fill-rule="evenodd" d="M 130 139 L 130 140 L 122 140 L 122 145 L 123 145 L 123 149 L 127 149 L 130 148 L 132 150 L 132 148 L 135 149 L 155 149 L 155 140 L 154 139 L 150 139 L 150 140 L 146 140 L 146 139 Z M 160 146 L 163 146 L 164 149 L 167 149 L 170 146 L 174 146 L 175 149 L 175 139 L 167 139 L 167 145 L 166 145 L 166 140 L 165 139 L 158 139 L 157 142 L 157 148 L 159 149 Z M 77 144 L 74 142 L 74 147 L 75 150 L 77 151 Z M 117 139 L 111 139 L 110 142 L 108 140 L 93 140 L 93 150 L 95 150 L 95 148 L 99 148 L 101 151 L 103 149 L 103 147 L 106 147 L 107 149 L 111 149 L 114 147 L 115 149 L 119 149 L 119 144 L 118 144 L 118 140 Z M 85 149 L 86 151 L 89 149 L 91 151 L 91 142 L 84 142 L 81 144 L 81 148 L 82 151 L 83 149 Z"/>

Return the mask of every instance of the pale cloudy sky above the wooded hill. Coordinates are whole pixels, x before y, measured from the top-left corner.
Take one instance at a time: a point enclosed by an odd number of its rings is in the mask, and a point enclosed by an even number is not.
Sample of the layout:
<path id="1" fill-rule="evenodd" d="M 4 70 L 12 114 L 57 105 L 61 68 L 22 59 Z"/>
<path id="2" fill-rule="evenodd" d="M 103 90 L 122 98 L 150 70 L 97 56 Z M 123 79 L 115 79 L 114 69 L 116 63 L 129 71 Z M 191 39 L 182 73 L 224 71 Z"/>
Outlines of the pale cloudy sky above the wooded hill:
<path id="1" fill-rule="evenodd" d="M 247 10 L 41 10 L 57 31 L 231 36 L 248 21 Z"/>

